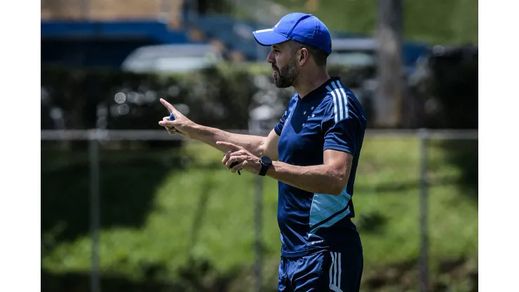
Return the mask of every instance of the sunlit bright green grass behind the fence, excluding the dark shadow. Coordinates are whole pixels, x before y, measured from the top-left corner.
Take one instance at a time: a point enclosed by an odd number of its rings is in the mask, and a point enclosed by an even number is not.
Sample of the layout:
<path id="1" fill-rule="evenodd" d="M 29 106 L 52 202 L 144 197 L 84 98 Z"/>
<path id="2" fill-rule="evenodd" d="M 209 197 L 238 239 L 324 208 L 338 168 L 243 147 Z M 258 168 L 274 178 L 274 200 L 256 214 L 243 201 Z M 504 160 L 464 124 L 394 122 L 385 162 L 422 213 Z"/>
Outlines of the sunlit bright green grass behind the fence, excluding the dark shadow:
<path id="1" fill-rule="evenodd" d="M 131 160 L 129 157 L 137 159 L 137 156 L 121 151 L 104 153 L 103 157 L 112 163 L 102 166 L 102 178 L 107 184 L 116 180 L 123 187 L 131 182 L 121 178 L 128 177 L 139 185 L 143 171 L 159 173 L 161 178 L 154 187 L 139 191 L 149 192 L 146 196 L 151 198 L 141 223 L 103 227 L 100 235 L 103 274 L 122 274 L 124 277 L 140 280 L 146 278 L 145 267 L 152 265 L 160 267 L 159 274 L 154 276 L 156 279 L 174 281 L 180 279 L 182 270 L 193 263 L 208 263 L 212 269 L 210 274 L 203 276 L 208 278 L 243 272 L 250 268 L 255 258 L 255 175 L 229 173 L 223 166 L 220 167 L 222 154 L 198 142 L 189 143 L 182 150 L 157 151 L 155 157 L 149 154 L 144 158 L 139 156 L 141 160 L 154 161 L 161 161 L 168 156 L 187 157 L 191 164 L 180 169 L 155 166 L 156 170 L 151 171 L 136 166 L 137 168 L 123 167 L 123 170 L 126 169 L 123 174 L 110 173 L 112 166 Z M 58 166 L 67 169 L 63 160 L 56 160 L 56 165 L 53 165 L 51 158 L 53 155 L 57 156 L 56 153 L 45 154 L 46 152 L 42 152 L 42 157 L 48 159 L 42 160 L 46 161 L 42 163 L 42 172 L 46 168 L 56 171 Z M 477 269 L 477 199 L 462 195 L 458 185 L 442 183 L 445 179 L 455 181 L 461 175 L 459 168 L 447 163 L 445 155 L 443 148 L 432 145 L 429 159 L 431 268 L 436 271 L 440 260 L 471 258 L 476 260 Z M 77 164 L 78 161 L 81 159 L 74 159 L 70 163 Z M 415 139 L 365 140 L 353 195 L 358 215 L 355 221 L 365 251 L 365 274 L 369 275 L 384 266 L 416 262 L 419 253 L 418 161 L 419 144 Z M 132 171 L 135 173 L 131 174 Z M 49 183 L 47 188 L 43 188 L 43 200 L 50 192 L 54 196 L 74 196 L 73 193 L 60 193 L 58 180 L 61 182 L 62 179 L 56 178 L 55 183 Z M 110 190 L 113 193 L 102 195 L 119 196 L 117 187 Z M 263 190 L 264 270 L 266 279 L 271 281 L 267 286 L 272 288 L 276 284 L 272 278 L 276 277 L 280 248 L 276 222 L 276 181 L 264 178 Z M 131 188 L 125 194 L 128 199 L 121 197 L 122 201 L 110 205 L 109 208 L 112 209 L 107 212 L 131 217 L 130 209 L 118 210 L 117 206 L 130 204 L 128 201 L 132 200 L 137 202 L 133 198 L 138 198 L 141 194 L 131 194 Z M 88 204 L 83 208 L 88 210 Z M 88 218 L 84 220 L 88 221 Z M 42 232 L 47 237 L 52 237 L 48 230 Z M 88 273 L 88 233 L 80 232 L 72 239 L 56 241 L 52 248 L 42 253 L 43 269 L 58 273 Z"/>

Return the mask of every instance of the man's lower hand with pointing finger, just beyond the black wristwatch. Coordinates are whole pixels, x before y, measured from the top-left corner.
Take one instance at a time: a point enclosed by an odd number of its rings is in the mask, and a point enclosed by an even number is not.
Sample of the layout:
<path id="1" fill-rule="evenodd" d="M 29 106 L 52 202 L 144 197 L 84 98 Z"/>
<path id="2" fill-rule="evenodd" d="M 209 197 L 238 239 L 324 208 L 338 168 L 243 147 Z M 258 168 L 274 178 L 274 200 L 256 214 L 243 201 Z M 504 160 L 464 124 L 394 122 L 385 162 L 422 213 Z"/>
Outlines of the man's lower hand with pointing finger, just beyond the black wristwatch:
<path id="1" fill-rule="evenodd" d="M 260 173 L 262 168 L 260 158 L 248 152 L 245 148 L 223 141 L 216 142 L 216 145 L 221 145 L 231 150 L 227 152 L 224 159 L 222 159 L 222 164 L 227 166 L 227 168 L 229 168 L 234 162 L 238 162 L 236 166 L 231 168 L 231 172 L 235 173 L 236 171 L 244 169 L 253 174 Z"/>

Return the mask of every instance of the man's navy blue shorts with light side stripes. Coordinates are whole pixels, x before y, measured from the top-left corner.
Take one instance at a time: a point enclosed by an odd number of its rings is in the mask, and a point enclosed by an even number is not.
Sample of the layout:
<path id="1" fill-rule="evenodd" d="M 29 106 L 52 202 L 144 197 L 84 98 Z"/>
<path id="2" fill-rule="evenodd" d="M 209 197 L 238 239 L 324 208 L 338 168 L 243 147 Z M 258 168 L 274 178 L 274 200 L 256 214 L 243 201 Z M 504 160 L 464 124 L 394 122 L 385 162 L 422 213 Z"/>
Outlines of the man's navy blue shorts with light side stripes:
<path id="1" fill-rule="evenodd" d="M 361 248 L 343 253 L 321 251 L 299 258 L 281 257 L 278 291 L 358 292 L 363 265 Z"/>

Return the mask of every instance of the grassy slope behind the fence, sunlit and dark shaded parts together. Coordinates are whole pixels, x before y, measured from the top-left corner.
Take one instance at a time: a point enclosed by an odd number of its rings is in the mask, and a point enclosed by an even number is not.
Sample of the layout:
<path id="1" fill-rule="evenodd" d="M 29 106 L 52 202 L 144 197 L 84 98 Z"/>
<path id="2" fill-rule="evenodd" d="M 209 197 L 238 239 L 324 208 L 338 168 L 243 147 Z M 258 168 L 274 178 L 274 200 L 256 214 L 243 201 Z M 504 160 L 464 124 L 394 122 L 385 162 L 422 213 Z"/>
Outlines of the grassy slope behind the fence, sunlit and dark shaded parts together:
<path id="1" fill-rule="evenodd" d="M 366 291 L 416 291 L 418 146 L 413 138 L 365 141 L 353 202 L 365 251 Z M 472 291 L 469 276 L 477 277 L 478 260 L 477 193 L 458 183 L 462 168 L 449 163 L 447 154 L 440 143 L 433 143 L 431 274 L 437 287 Z M 198 142 L 173 151 L 102 152 L 103 277 L 180 283 L 184 291 L 213 291 L 210 287 L 217 285 L 248 291 L 243 287 L 251 287 L 255 258 L 256 177 L 229 173 L 221 158 L 220 152 Z M 41 165 L 42 269 L 88 277 L 86 152 L 42 151 Z M 280 248 L 276 181 L 264 178 L 263 190 L 264 286 L 275 291 Z"/>

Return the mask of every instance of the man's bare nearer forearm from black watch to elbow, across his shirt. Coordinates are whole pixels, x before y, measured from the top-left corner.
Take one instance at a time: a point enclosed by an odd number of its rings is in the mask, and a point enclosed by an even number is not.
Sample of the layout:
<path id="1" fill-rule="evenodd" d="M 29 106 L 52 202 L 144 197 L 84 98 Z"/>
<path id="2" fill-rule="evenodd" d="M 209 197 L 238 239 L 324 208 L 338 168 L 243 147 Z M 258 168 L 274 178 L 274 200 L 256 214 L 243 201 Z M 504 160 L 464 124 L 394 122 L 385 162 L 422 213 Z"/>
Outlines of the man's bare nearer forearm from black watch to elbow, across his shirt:
<path id="1" fill-rule="evenodd" d="M 319 194 L 339 195 L 347 180 L 340 169 L 332 166 L 294 166 L 280 161 L 273 161 L 267 171 L 271 178 L 279 180 L 298 189 Z"/>

